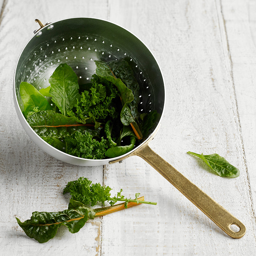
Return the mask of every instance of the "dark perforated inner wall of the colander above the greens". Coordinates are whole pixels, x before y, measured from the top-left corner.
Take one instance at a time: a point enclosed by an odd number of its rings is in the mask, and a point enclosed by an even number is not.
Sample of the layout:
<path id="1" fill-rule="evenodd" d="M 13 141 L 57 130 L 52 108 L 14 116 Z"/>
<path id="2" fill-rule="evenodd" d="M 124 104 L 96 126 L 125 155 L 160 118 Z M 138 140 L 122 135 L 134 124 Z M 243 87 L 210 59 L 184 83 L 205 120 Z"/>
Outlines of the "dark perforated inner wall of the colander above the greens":
<path id="1" fill-rule="evenodd" d="M 78 83 L 85 84 L 95 73 L 94 60 L 121 58 L 128 61 L 140 84 L 139 111 L 156 110 L 161 116 L 164 81 L 152 53 L 124 28 L 92 18 L 50 23 L 32 37 L 20 55 L 14 77 L 19 106 L 22 110 L 20 83 L 28 82 L 38 90 L 45 88 L 49 86 L 49 77 L 61 63 L 71 66 L 77 74 Z"/>

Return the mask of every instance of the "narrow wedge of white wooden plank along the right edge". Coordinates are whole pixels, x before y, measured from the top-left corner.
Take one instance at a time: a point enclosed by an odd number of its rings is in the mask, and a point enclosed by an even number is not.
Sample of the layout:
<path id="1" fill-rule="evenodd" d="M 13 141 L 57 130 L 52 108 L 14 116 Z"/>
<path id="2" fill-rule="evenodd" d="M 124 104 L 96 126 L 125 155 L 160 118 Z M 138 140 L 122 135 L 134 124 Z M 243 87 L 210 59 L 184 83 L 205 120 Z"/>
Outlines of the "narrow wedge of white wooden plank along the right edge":
<path id="1" fill-rule="evenodd" d="M 256 201 L 256 3 L 252 1 L 234 5 L 226 1 L 223 6 L 223 16 L 229 42 L 232 62 L 234 88 L 236 90 L 237 110 L 241 136 L 244 147 L 244 161 L 247 179 L 250 182 L 252 207 Z M 239 35 L 239 36 L 238 36 Z M 252 216 L 255 219 L 255 212 Z"/>

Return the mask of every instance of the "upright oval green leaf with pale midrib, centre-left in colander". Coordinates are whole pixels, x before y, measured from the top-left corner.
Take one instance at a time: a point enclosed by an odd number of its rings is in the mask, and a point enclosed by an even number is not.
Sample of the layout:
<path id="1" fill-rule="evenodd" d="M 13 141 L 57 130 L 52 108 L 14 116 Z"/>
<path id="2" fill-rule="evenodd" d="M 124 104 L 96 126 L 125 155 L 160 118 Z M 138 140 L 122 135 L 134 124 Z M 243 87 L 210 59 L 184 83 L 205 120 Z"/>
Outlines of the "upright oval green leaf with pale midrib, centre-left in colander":
<path id="1" fill-rule="evenodd" d="M 80 98 L 76 73 L 66 63 L 60 64 L 49 78 L 49 83 L 51 85 L 49 93 L 52 95 L 52 102 L 66 116 L 67 111 L 71 110 L 76 104 L 76 99 Z"/>

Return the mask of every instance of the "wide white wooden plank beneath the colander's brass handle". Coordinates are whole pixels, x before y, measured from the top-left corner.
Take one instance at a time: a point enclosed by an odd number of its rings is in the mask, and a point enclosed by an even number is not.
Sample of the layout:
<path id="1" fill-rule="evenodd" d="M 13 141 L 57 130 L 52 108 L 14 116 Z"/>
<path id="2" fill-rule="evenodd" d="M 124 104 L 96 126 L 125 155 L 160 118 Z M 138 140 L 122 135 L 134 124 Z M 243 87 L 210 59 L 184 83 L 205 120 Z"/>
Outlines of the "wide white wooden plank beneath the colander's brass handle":
<path id="1" fill-rule="evenodd" d="M 110 228 L 116 222 L 117 228 L 122 227 L 110 235 L 103 229 L 103 252 L 106 255 L 114 250 L 129 255 L 138 251 L 157 252 L 156 255 L 239 255 L 246 248 L 248 254 L 255 254 L 253 209 L 220 2 L 133 1 L 127 7 L 122 1 L 111 1 L 110 5 L 110 20 L 141 38 L 155 54 L 164 73 L 166 110 L 151 147 L 241 219 L 248 230 L 243 239 L 230 240 L 156 171 L 133 157 L 125 160 L 125 168 L 122 164 L 110 166 L 106 184 L 126 187 L 131 190 L 130 196 L 138 188 L 143 195 L 149 193 L 149 197 L 152 191 L 156 197 L 152 200 L 158 205 L 143 206 L 143 222 L 131 222 L 134 215 L 141 217 L 140 206 L 130 209 L 132 213 L 118 213 L 118 218 L 103 217 L 103 227 Z M 117 16 L 124 8 L 127 19 Z M 240 177 L 216 176 L 205 164 L 188 156 L 188 150 L 224 156 L 239 167 Z M 122 214 L 125 214 L 123 218 Z M 138 228 L 140 225 L 144 227 L 143 232 Z M 111 236 L 115 236 L 115 243 Z M 136 249 L 124 244 L 128 238 Z"/>

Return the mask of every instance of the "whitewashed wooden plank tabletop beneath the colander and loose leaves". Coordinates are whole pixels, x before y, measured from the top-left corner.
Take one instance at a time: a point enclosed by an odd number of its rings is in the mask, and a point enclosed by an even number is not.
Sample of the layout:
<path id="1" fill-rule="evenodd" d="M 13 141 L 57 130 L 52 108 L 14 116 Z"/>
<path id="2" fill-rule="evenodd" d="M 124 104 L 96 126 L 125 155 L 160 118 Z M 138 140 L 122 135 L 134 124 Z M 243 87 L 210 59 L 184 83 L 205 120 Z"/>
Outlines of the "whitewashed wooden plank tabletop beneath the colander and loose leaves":
<path id="1" fill-rule="evenodd" d="M 255 0 L 0 0 L 0 255 L 256 255 Z M 139 157 L 81 167 L 44 153 L 19 123 L 12 99 L 18 56 L 38 28 L 35 19 L 112 21 L 153 52 L 166 82 L 166 109 L 150 147 L 241 220 L 232 239 Z M 187 151 L 218 153 L 240 169 L 221 178 Z M 90 220 L 76 234 L 61 227 L 39 244 L 15 217 L 61 211 L 70 180 L 80 176 L 136 192 L 139 205 Z"/>

